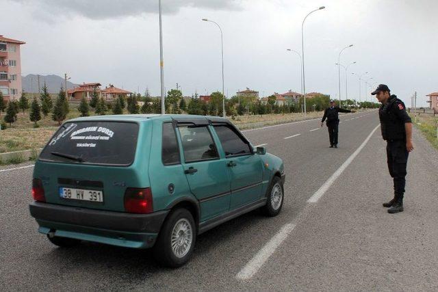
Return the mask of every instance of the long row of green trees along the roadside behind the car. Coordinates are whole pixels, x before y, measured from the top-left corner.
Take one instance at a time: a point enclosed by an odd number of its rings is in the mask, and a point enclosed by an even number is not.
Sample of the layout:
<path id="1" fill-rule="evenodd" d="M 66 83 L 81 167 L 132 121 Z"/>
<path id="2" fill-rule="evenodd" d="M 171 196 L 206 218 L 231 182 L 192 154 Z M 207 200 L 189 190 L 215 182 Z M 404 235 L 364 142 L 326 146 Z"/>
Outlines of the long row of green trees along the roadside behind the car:
<path id="1" fill-rule="evenodd" d="M 209 103 L 201 101 L 197 94 L 192 96 L 188 102 L 183 98 L 180 90 L 172 89 L 168 91 L 165 99 L 166 113 L 168 114 L 193 114 L 193 115 L 210 115 L 222 116 L 222 101 L 224 96 L 221 92 L 213 92 L 210 95 Z M 141 106 L 139 101 L 142 102 Z M 262 103 L 256 98 L 246 98 L 233 96 L 225 99 L 225 111 L 227 116 L 242 116 L 244 114 L 288 114 L 293 112 L 301 112 L 304 106 L 304 98 L 299 98 L 294 101 L 287 99 L 283 105 L 276 105 L 276 96 L 268 96 L 266 103 Z M 368 101 L 358 103 L 355 100 L 342 101 L 342 107 L 347 108 L 376 108 L 378 103 L 371 103 Z M 313 98 L 306 98 L 307 111 L 322 111 L 329 107 L 329 96 L 321 95 Z M 26 109 L 30 108 L 29 120 L 35 123 L 34 127 L 38 127 L 37 122 L 41 120 L 42 116 L 47 117 L 51 114 L 52 120 L 61 124 L 66 119 L 70 111 L 68 101 L 64 88 L 60 89 L 57 94 L 55 103 L 49 94 L 47 86 L 44 84 L 40 92 L 39 99 L 34 97 L 29 105 L 27 94 L 23 92 L 18 101 L 11 101 L 6 107 L 3 101 L 3 96 L 0 92 L 0 115 L 6 109 L 6 114 L 3 120 L 10 125 L 17 120 L 19 111 L 25 113 Z M 90 102 L 83 96 L 78 107 L 80 116 L 90 116 L 90 110 L 94 111 L 96 115 L 105 115 L 107 111 L 112 114 L 123 114 L 124 109 L 130 114 L 160 114 L 161 100 L 160 98 L 153 98 L 146 92 L 145 96 L 140 94 L 131 94 L 126 99 L 122 96 L 116 98 L 114 101 L 105 101 L 98 92 L 94 90 Z"/>

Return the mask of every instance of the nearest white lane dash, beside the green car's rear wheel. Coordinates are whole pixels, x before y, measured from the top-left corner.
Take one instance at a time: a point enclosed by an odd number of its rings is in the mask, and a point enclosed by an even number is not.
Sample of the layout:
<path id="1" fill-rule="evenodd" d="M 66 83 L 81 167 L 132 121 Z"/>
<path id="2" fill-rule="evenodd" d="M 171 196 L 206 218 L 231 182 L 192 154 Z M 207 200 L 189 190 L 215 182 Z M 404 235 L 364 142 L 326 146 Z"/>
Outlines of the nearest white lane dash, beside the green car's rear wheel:
<path id="1" fill-rule="evenodd" d="M 268 243 L 246 264 L 243 269 L 235 276 L 240 280 L 248 280 L 253 277 L 268 258 L 275 252 L 281 243 L 287 238 L 287 235 L 294 230 L 295 224 L 285 224 L 280 231 L 272 237 Z"/>

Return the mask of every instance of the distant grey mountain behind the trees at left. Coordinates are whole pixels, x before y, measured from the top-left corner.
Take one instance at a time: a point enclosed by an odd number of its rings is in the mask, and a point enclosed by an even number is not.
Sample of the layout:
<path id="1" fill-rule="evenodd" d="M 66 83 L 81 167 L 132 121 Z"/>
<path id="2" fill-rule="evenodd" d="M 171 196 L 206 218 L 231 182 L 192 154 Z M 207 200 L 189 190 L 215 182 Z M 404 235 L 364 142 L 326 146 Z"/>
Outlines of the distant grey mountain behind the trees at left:
<path id="1" fill-rule="evenodd" d="M 64 87 L 64 78 L 57 75 L 40 75 L 40 88 L 44 86 L 44 82 L 49 88 L 49 93 L 60 92 L 61 85 Z M 38 92 L 38 75 L 29 74 L 21 77 L 21 83 L 23 84 L 23 90 L 25 92 Z M 67 81 L 67 88 L 76 88 L 79 85 Z"/>

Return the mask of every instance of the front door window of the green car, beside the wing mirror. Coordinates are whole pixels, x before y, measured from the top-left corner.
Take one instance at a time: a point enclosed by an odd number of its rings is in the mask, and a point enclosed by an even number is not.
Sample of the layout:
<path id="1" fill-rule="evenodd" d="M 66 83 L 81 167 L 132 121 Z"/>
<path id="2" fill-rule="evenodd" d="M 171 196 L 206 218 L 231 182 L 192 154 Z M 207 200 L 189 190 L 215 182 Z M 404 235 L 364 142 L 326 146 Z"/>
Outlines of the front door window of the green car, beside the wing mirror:
<path id="1" fill-rule="evenodd" d="M 226 156 L 251 154 L 250 146 L 231 127 L 214 126 Z"/>

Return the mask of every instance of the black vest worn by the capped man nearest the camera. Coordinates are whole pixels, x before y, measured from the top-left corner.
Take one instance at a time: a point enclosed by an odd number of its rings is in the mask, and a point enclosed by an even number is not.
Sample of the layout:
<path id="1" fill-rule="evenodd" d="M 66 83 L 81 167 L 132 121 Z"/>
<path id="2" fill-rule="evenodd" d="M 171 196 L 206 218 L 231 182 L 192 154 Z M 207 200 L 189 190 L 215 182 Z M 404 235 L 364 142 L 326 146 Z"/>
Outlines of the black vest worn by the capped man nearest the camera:
<path id="1" fill-rule="evenodd" d="M 404 107 L 404 103 L 400 101 L 400 99 L 391 97 L 386 105 L 381 105 L 380 109 L 378 109 L 378 117 L 381 120 L 382 137 L 387 141 L 406 140 L 404 122 L 396 116 L 396 111 L 400 110 L 395 106 L 396 101 L 402 103 Z"/>

